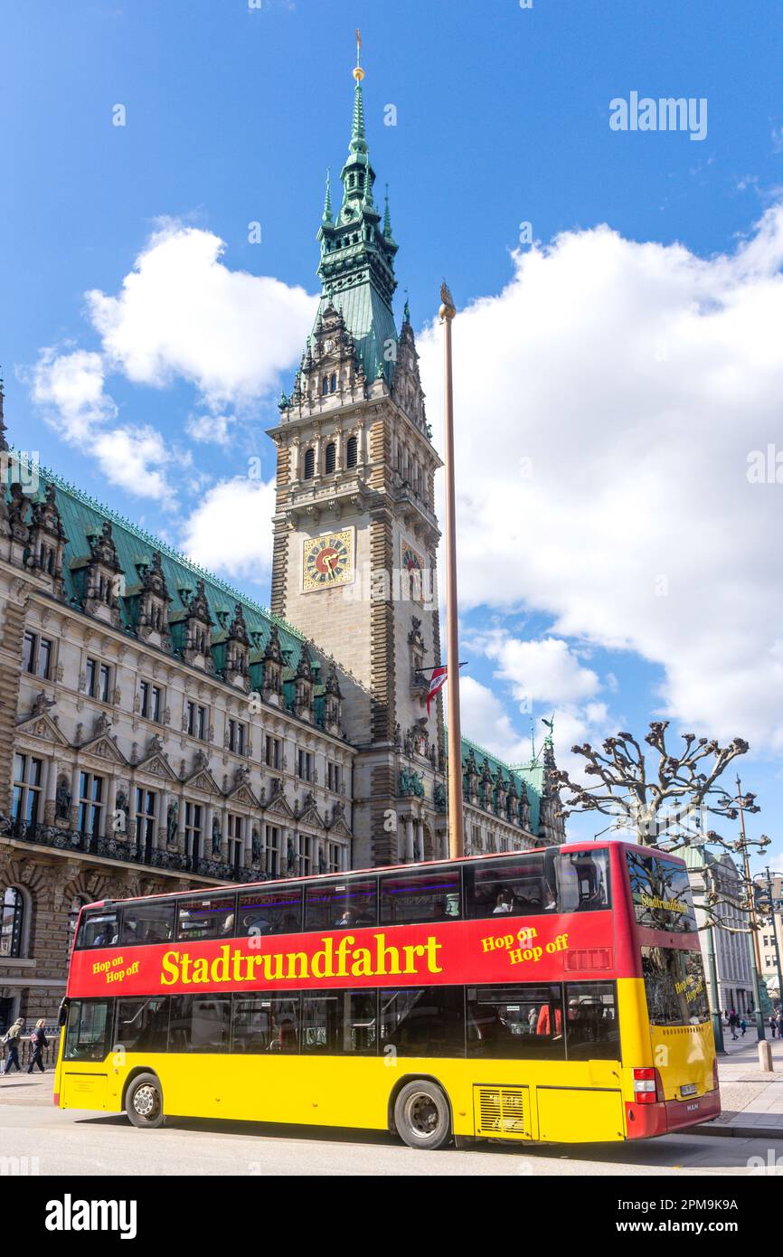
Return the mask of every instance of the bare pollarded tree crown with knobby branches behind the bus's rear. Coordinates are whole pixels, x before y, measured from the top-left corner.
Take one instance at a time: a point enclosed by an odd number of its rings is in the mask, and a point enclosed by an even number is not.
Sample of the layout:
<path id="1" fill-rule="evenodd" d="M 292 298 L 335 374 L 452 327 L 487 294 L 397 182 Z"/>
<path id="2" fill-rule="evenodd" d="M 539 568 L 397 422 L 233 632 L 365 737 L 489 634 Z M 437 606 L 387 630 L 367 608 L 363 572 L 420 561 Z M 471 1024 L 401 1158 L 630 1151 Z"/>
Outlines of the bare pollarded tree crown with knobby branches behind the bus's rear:
<path id="1" fill-rule="evenodd" d="M 666 745 L 667 728 L 669 720 L 654 720 L 643 739 L 655 753 L 652 764 L 631 733 L 607 738 L 600 750 L 588 742 L 572 747 L 573 754 L 586 760 L 584 776 L 598 782 L 594 788 L 582 786 L 563 769 L 550 769 L 553 788 L 571 796 L 558 816 L 600 812 L 612 817 L 616 828 L 628 830 L 641 846 L 664 846 L 687 833 L 691 825 L 698 827 L 703 812 L 736 820 L 736 799 L 719 778 L 733 759 L 745 754 L 748 743 L 734 738 L 720 747 L 714 738 L 684 733 L 685 747 L 677 754 Z"/>

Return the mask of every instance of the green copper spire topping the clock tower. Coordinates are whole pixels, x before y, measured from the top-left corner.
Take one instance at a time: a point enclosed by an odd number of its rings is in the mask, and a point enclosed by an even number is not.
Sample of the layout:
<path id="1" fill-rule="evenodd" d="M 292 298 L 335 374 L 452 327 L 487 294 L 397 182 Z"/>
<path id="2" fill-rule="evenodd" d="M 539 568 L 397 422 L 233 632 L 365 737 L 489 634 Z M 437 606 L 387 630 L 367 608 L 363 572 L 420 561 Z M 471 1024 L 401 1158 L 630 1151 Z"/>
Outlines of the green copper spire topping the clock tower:
<path id="1" fill-rule="evenodd" d="M 392 314 L 395 279 L 395 254 L 397 244 L 391 235 L 388 205 L 386 215 L 376 207 L 372 195 L 376 173 L 370 161 L 364 131 L 364 103 L 362 98 L 361 36 L 357 31 L 357 62 L 352 70 L 353 114 L 348 156 L 341 171 L 343 185 L 342 204 L 337 214 L 332 209 L 331 184 L 327 184 L 324 211 L 318 231 L 322 298 L 315 316 L 315 326 L 326 308 L 334 305 L 346 321 L 346 327 L 356 346 L 367 380 L 378 377 L 381 366 L 390 377 L 393 357 L 390 343 L 396 342 L 397 329 Z M 383 217 L 383 221 L 382 221 Z"/>

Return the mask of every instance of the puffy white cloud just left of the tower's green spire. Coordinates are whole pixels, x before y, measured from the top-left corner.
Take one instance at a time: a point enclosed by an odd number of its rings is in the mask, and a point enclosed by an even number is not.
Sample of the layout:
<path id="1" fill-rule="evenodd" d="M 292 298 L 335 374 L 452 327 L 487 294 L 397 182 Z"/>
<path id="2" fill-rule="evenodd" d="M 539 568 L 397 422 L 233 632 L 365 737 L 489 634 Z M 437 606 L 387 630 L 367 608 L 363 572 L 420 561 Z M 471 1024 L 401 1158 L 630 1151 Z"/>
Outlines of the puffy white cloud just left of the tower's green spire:
<path id="1" fill-rule="evenodd" d="M 268 275 L 229 270 L 211 231 L 165 222 L 117 297 L 87 294 L 112 368 L 137 383 L 191 381 L 216 410 L 268 393 L 294 365 L 317 298 Z"/>

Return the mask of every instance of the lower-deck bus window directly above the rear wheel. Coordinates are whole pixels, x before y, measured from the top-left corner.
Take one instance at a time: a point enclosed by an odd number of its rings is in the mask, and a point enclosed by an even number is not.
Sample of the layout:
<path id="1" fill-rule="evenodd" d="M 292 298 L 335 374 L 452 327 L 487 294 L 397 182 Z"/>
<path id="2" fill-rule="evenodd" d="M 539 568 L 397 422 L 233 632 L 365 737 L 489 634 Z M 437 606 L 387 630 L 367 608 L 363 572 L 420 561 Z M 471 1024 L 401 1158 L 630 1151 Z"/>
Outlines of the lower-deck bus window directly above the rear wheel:
<path id="1" fill-rule="evenodd" d="M 465 1056 L 464 987 L 381 991 L 381 1051 L 397 1056 Z"/>

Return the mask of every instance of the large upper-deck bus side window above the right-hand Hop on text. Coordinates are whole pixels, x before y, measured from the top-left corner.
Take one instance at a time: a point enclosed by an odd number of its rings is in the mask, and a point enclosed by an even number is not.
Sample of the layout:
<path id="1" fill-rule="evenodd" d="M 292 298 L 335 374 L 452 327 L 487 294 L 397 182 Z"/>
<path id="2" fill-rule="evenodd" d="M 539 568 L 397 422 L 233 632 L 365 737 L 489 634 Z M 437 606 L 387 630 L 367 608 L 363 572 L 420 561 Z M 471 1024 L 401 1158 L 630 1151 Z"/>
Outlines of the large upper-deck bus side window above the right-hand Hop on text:
<path id="1" fill-rule="evenodd" d="M 464 876 L 466 916 L 500 916 L 506 913 L 533 916 L 557 910 L 543 851 L 468 864 Z"/>

